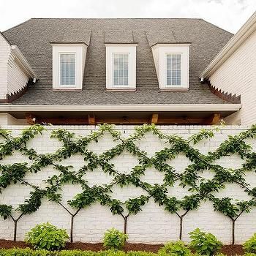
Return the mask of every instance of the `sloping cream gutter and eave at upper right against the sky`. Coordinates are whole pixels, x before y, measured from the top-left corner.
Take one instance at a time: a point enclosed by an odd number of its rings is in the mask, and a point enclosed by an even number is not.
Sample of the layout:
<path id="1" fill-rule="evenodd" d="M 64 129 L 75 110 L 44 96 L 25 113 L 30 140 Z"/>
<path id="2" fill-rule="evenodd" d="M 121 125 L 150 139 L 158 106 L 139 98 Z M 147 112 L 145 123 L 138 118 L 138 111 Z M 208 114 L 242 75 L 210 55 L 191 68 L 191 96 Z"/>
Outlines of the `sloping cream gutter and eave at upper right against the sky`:
<path id="1" fill-rule="evenodd" d="M 244 23 L 244 26 L 227 42 L 219 51 L 217 56 L 208 64 L 206 69 L 200 74 L 200 79 L 209 78 L 234 52 L 239 46 L 256 30 L 256 12 Z"/>

